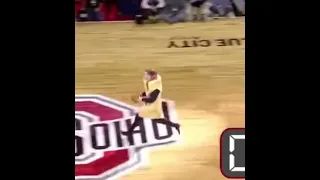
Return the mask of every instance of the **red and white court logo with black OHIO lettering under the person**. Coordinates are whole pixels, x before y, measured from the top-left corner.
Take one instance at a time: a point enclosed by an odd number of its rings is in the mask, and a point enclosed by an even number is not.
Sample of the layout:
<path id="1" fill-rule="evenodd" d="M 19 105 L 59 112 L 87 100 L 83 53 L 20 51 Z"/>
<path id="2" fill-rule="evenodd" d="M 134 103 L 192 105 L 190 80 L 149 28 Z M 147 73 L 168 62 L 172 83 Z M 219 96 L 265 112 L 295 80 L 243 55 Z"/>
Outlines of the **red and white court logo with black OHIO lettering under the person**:
<path id="1" fill-rule="evenodd" d="M 178 141 L 178 132 L 150 119 L 126 131 L 136 108 L 100 95 L 75 95 L 75 180 L 117 179 L 141 166 L 146 149 Z M 163 102 L 163 114 L 178 120 L 174 102 Z"/>

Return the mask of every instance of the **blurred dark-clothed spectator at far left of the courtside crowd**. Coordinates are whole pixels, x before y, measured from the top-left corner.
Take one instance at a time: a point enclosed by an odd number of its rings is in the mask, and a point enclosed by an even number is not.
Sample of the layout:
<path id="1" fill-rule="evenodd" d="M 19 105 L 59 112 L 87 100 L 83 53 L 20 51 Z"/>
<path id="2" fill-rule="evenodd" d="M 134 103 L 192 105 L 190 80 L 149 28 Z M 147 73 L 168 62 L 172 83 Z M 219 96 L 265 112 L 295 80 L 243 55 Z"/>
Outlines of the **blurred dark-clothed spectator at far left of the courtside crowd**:
<path id="1" fill-rule="evenodd" d="M 89 21 L 102 21 L 103 15 L 100 11 L 102 0 L 86 0 L 86 11 Z"/>

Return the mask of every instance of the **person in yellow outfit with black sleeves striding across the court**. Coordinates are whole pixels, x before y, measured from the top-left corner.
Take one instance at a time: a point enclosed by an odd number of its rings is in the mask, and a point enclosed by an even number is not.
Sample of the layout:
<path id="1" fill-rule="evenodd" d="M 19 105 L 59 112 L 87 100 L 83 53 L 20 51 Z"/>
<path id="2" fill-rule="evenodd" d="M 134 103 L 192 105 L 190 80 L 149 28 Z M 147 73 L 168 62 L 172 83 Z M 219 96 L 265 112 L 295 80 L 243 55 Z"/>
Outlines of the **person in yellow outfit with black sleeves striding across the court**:
<path id="1" fill-rule="evenodd" d="M 140 94 L 138 101 L 144 105 L 135 116 L 133 124 L 129 130 L 122 132 L 123 135 L 130 135 L 133 130 L 140 125 L 143 118 L 150 118 L 153 121 L 171 126 L 177 129 L 180 134 L 180 124 L 173 123 L 162 117 L 162 80 L 161 76 L 155 70 L 146 70 L 143 79 L 144 92 Z"/>

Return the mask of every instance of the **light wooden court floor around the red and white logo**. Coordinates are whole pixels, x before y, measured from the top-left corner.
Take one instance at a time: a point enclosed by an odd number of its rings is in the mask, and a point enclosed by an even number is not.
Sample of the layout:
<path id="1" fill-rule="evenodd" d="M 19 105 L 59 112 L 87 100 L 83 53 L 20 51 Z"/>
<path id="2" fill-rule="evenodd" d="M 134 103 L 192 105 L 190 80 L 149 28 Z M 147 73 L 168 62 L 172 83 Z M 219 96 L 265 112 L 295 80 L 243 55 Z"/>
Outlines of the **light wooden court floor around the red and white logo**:
<path id="1" fill-rule="evenodd" d="M 219 136 L 228 127 L 244 127 L 244 41 L 218 46 L 221 39 L 242 39 L 244 19 L 205 23 L 76 24 L 76 94 L 102 94 L 129 104 L 143 89 L 144 69 L 163 78 L 164 98 L 174 100 L 183 142 L 154 150 L 150 165 L 121 180 L 223 180 Z M 190 46 L 209 40 L 209 47 Z M 218 42 L 219 41 L 219 42 Z M 204 42 L 202 41 L 202 45 Z"/>

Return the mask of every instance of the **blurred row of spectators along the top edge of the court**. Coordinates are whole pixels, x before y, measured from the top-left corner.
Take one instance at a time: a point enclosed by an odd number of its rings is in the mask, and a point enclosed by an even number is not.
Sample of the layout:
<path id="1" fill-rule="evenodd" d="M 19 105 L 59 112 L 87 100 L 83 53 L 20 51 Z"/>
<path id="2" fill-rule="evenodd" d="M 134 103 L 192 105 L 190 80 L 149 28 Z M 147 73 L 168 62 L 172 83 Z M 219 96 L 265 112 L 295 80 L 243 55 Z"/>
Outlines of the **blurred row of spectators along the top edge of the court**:
<path id="1" fill-rule="evenodd" d="M 76 21 L 205 21 L 245 16 L 245 0 L 75 0 Z"/>

